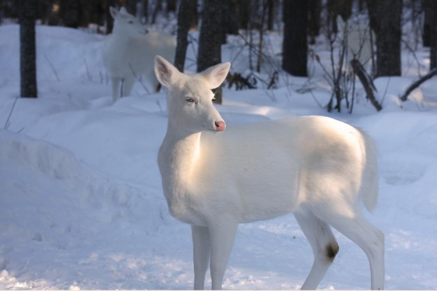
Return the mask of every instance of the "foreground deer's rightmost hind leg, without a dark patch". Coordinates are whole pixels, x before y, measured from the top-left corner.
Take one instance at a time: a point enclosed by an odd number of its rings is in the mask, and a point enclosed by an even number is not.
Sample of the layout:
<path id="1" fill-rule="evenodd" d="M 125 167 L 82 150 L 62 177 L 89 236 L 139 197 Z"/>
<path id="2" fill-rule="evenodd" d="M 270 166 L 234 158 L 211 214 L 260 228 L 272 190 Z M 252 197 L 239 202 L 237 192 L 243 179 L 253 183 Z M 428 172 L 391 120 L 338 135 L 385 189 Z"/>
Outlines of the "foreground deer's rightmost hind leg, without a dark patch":
<path id="1" fill-rule="evenodd" d="M 359 210 L 354 216 L 329 211 L 321 214 L 321 219 L 358 244 L 366 253 L 370 264 L 371 289 L 384 289 L 384 234 L 372 226 Z"/>

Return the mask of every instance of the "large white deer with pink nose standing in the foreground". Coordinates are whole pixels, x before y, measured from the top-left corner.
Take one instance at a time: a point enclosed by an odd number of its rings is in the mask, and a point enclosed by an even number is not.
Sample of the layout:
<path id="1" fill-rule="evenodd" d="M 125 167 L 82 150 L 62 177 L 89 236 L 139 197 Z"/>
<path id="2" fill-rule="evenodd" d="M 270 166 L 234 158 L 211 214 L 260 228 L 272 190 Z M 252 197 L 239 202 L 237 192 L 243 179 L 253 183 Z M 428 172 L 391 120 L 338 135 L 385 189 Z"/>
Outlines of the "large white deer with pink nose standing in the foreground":
<path id="1" fill-rule="evenodd" d="M 329 227 L 358 244 L 370 263 L 371 288 L 384 288 L 384 234 L 363 216 L 377 201 L 375 148 L 362 131 L 322 116 L 225 129 L 213 106 L 230 63 L 185 75 L 155 56 L 168 88 L 168 127 L 159 149 L 168 210 L 191 225 L 194 289 L 203 289 L 210 260 L 212 289 L 221 289 L 239 223 L 292 212 L 314 253 L 302 289 L 315 289 L 338 251 Z"/>

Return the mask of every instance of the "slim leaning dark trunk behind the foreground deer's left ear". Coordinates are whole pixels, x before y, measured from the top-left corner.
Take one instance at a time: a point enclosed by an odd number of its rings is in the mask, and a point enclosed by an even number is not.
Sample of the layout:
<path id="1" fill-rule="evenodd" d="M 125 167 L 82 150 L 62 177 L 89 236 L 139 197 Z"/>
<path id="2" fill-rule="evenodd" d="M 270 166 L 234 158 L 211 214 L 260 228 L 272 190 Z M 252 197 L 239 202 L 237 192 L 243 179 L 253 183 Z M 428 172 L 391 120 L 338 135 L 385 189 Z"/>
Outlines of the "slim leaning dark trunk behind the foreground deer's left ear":
<path id="1" fill-rule="evenodd" d="M 178 36 L 176 45 L 176 54 L 174 56 L 174 65 L 181 72 L 184 72 L 186 47 L 188 46 L 188 31 L 190 30 L 191 20 L 193 16 L 192 6 L 196 4 L 196 0 L 181 0 L 178 13 Z"/>

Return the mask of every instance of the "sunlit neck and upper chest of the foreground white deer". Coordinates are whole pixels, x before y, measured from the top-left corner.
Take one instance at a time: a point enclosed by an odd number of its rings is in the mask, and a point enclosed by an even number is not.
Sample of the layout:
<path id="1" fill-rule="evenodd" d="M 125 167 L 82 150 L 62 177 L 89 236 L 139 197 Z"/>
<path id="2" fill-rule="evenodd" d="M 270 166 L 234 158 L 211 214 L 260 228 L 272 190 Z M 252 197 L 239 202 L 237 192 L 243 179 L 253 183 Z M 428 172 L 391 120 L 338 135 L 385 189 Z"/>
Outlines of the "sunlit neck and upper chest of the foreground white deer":
<path id="1" fill-rule="evenodd" d="M 192 187 L 193 173 L 201 155 L 200 138 L 200 132 L 183 132 L 168 125 L 158 154 L 158 165 L 167 200 L 174 195 L 186 194 Z"/>

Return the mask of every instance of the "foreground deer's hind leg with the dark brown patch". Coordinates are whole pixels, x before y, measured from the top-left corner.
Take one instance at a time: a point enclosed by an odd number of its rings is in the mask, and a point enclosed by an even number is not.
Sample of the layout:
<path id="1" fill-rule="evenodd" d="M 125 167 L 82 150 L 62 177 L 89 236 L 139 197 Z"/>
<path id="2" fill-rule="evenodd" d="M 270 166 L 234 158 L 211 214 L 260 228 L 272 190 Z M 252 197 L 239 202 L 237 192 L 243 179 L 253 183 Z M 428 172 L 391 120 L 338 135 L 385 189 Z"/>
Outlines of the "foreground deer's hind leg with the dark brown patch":
<path id="1" fill-rule="evenodd" d="M 298 211 L 294 213 L 294 216 L 310 243 L 314 254 L 313 266 L 301 289 L 314 290 L 334 261 L 338 252 L 338 244 L 330 227 L 311 211 Z"/>

